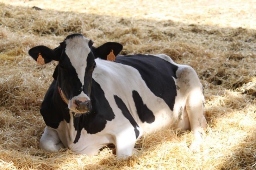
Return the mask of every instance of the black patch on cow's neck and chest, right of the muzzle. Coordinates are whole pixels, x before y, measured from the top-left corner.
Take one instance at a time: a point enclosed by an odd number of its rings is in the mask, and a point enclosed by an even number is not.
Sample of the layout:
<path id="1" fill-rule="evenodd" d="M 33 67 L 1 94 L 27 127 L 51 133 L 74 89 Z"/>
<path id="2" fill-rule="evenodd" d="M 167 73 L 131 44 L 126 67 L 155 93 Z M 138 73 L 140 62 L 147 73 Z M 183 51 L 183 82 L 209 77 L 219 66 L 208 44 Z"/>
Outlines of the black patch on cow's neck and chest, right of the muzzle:
<path id="1" fill-rule="evenodd" d="M 96 134 L 105 128 L 107 121 L 115 118 L 104 91 L 101 89 L 100 84 L 93 79 L 91 102 L 92 110 L 90 113 L 82 114 L 80 117 L 74 117 L 74 127 L 77 130 L 74 143 L 78 142 L 83 128 L 88 134 Z"/>

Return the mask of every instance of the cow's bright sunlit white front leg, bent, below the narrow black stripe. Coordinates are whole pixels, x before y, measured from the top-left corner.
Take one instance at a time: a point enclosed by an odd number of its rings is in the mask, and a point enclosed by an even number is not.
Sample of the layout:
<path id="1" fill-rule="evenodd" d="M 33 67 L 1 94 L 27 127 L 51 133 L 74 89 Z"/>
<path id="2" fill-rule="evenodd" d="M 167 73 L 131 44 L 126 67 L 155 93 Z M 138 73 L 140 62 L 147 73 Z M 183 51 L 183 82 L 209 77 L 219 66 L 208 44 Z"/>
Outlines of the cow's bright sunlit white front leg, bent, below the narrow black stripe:
<path id="1" fill-rule="evenodd" d="M 115 149 L 119 159 L 127 158 L 132 155 L 136 142 L 134 128 L 129 127 L 115 136 Z"/>

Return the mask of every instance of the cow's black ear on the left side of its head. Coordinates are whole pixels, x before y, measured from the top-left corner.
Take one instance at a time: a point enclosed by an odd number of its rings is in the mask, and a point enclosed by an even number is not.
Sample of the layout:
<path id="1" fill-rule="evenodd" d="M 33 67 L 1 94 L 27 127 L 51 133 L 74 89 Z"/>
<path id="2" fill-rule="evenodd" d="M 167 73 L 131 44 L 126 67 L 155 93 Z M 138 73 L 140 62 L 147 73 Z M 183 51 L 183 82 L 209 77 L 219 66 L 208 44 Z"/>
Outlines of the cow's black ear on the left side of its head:
<path id="1" fill-rule="evenodd" d="M 60 46 L 55 49 L 50 49 L 46 46 L 36 46 L 29 50 L 29 55 L 36 61 L 39 53 L 41 53 L 44 63 L 49 63 L 51 60 L 59 61 L 61 48 Z"/>

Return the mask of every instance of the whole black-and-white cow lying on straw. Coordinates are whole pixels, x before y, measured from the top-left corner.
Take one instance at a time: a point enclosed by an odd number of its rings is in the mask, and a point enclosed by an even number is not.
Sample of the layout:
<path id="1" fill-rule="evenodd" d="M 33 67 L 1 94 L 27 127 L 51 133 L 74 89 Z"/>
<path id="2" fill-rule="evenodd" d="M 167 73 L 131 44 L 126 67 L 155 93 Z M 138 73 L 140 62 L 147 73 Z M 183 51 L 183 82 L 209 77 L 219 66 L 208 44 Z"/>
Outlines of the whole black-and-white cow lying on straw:
<path id="1" fill-rule="evenodd" d="M 144 132 L 161 128 L 191 129 L 198 150 L 206 127 L 202 86 L 193 68 L 169 56 L 118 55 L 123 46 L 72 34 L 55 49 L 33 47 L 29 54 L 45 63 L 58 61 L 40 113 L 46 128 L 40 148 L 61 147 L 95 155 L 113 143 L 118 157 L 132 155 Z M 115 61 L 107 61 L 113 50 Z"/>

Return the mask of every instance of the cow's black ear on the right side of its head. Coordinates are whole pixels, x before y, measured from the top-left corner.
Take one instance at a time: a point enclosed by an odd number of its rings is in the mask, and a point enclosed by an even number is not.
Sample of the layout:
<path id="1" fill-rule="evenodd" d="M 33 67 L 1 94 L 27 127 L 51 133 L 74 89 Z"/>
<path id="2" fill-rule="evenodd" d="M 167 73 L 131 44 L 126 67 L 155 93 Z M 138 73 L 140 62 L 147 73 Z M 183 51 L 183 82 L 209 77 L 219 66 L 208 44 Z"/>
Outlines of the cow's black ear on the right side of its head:
<path id="1" fill-rule="evenodd" d="M 91 50 L 95 58 L 101 58 L 107 60 L 107 55 L 110 54 L 110 51 L 113 50 L 115 56 L 117 56 L 121 50 L 123 49 L 123 45 L 117 42 L 106 42 L 105 44 L 95 48 L 92 46 Z"/>

